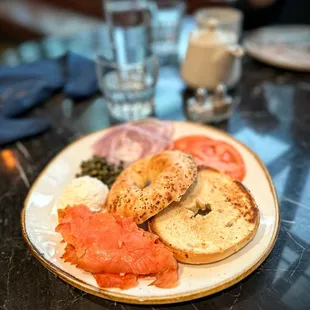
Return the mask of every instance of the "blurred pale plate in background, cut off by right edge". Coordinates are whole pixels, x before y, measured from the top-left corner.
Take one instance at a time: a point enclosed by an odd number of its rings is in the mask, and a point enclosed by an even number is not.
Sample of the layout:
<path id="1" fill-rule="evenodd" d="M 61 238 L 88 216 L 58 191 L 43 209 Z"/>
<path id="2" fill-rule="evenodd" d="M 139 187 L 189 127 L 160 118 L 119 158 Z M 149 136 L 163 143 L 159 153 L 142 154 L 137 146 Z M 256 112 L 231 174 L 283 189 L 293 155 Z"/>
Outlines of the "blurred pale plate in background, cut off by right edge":
<path id="1" fill-rule="evenodd" d="M 269 65 L 310 71 L 310 27 L 271 26 L 249 33 L 244 42 L 252 57 Z"/>

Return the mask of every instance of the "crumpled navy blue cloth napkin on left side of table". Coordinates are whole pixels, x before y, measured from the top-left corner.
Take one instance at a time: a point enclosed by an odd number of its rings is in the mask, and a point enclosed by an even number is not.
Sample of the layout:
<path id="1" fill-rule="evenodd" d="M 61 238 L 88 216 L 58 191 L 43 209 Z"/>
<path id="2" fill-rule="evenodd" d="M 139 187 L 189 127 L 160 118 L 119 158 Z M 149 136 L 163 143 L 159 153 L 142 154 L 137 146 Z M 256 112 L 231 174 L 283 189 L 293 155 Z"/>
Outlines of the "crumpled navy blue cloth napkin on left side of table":
<path id="1" fill-rule="evenodd" d="M 18 67 L 0 66 L 0 145 L 46 131 L 46 118 L 19 119 L 55 92 L 77 100 L 98 91 L 95 64 L 74 53 Z M 13 119 L 14 118 L 14 119 Z"/>

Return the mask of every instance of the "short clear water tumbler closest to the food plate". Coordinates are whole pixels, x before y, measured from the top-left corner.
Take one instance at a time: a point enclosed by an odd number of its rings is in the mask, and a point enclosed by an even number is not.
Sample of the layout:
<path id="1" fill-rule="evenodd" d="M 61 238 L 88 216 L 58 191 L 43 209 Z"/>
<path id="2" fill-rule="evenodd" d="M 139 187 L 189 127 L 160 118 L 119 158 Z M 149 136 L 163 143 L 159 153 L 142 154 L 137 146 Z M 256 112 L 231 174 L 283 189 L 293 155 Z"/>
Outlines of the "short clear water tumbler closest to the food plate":
<path id="1" fill-rule="evenodd" d="M 132 64 L 119 64 L 97 56 L 99 87 L 114 122 L 146 118 L 154 113 L 158 60 L 155 55 Z"/>

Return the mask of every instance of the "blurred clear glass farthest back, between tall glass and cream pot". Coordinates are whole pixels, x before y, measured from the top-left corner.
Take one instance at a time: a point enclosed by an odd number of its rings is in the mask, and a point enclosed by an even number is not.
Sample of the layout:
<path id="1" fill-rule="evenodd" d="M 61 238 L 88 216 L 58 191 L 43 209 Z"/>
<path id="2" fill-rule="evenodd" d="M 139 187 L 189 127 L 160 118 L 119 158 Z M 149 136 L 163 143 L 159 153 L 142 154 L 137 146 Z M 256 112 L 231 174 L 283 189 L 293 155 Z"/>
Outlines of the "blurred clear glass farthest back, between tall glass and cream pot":
<path id="1" fill-rule="evenodd" d="M 155 0 L 152 10 L 152 50 L 161 60 L 178 54 L 185 2 Z"/>

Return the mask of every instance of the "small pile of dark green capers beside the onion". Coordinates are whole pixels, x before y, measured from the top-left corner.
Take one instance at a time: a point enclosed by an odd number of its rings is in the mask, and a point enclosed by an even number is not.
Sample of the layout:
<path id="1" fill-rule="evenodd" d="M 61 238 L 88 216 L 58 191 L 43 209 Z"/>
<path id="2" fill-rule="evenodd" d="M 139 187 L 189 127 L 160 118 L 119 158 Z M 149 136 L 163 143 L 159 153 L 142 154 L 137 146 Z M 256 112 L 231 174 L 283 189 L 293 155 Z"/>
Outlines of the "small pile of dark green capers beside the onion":
<path id="1" fill-rule="evenodd" d="M 91 159 L 82 161 L 80 169 L 81 172 L 76 177 L 87 175 L 97 178 L 111 188 L 116 178 L 124 170 L 124 162 L 121 161 L 119 165 L 114 165 L 108 163 L 105 157 L 94 155 Z"/>

